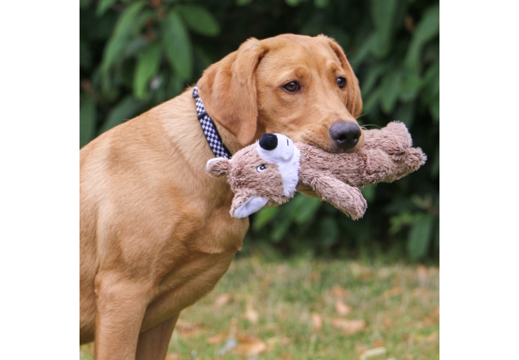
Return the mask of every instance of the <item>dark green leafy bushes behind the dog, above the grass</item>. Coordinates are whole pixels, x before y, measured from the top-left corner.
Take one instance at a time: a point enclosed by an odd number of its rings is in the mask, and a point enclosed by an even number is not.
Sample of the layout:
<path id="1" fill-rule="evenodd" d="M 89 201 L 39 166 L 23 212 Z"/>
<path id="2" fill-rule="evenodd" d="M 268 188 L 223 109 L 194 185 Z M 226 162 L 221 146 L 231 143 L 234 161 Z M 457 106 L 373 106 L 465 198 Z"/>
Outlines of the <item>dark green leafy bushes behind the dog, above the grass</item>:
<path id="1" fill-rule="evenodd" d="M 80 147 L 173 98 L 250 37 L 333 37 L 359 77 L 366 128 L 393 120 L 428 154 L 419 171 L 363 189 L 352 221 L 296 195 L 251 217 L 246 241 L 281 253 L 439 250 L 439 2 L 414 0 L 80 0 Z"/>

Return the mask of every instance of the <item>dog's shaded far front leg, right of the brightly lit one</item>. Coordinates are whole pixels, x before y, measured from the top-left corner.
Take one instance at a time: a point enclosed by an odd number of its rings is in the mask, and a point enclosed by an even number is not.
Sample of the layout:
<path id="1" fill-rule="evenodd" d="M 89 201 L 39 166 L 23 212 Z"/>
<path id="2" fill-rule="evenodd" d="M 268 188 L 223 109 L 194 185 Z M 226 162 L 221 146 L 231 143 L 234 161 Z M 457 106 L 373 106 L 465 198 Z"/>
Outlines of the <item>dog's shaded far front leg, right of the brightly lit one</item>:
<path id="1" fill-rule="evenodd" d="M 175 315 L 141 333 L 135 360 L 164 360 L 178 318 L 179 315 Z"/>

